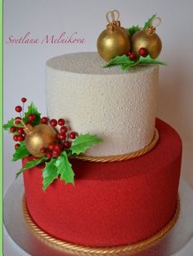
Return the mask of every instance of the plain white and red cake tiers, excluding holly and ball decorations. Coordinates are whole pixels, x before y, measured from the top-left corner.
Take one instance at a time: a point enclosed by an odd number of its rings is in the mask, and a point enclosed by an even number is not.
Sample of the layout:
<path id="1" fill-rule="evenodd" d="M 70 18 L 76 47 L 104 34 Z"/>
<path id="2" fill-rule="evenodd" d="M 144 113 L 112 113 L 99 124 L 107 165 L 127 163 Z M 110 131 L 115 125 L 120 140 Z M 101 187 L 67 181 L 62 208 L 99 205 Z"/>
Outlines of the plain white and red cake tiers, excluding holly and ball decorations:
<path id="1" fill-rule="evenodd" d="M 24 172 L 33 222 L 55 239 L 89 248 L 133 245 L 168 231 L 177 216 L 182 158 L 177 132 L 155 120 L 159 66 L 123 72 L 103 65 L 97 53 L 46 64 L 48 117 L 104 139 L 71 158 L 74 185 L 56 180 L 43 191 L 41 167 Z"/>

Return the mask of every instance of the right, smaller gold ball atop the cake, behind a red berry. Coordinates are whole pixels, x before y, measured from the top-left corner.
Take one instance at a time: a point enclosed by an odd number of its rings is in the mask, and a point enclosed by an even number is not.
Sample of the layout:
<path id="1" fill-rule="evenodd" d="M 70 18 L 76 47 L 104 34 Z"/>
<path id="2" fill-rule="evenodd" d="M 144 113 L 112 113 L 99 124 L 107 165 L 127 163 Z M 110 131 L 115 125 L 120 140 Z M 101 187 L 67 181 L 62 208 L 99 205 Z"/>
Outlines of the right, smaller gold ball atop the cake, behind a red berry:
<path id="1" fill-rule="evenodd" d="M 148 34 L 146 30 L 137 31 L 132 35 L 132 53 L 135 53 L 137 57 L 140 57 L 140 48 L 146 48 L 150 57 L 156 58 L 161 53 L 161 39 L 156 33 Z"/>

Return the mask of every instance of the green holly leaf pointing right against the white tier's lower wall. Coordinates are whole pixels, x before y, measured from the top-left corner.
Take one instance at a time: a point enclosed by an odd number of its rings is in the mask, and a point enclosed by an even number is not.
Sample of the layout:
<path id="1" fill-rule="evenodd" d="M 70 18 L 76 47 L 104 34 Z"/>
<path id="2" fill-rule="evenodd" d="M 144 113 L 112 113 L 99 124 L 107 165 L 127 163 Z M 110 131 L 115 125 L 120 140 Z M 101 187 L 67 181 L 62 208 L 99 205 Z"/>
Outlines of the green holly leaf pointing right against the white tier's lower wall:
<path id="1" fill-rule="evenodd" d="M 99 144 L 102 141 L 103 139 L 98 138 L 96 135 L 79 135 L 74 139 L 70 150 L 73 154 L 85 153 L 87 149 L 92 147 L 92 145 Z"/>

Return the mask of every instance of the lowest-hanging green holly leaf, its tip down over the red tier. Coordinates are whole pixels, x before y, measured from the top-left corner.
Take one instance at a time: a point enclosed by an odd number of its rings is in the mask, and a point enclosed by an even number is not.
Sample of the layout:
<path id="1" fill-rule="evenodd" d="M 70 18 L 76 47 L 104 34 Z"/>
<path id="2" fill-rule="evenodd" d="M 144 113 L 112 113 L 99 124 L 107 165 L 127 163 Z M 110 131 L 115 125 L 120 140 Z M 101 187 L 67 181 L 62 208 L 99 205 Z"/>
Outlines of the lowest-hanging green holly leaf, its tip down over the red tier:
<path id="1" fill-rule="evenodd" d="M 46 167 L 43 168 L 43 190 L 46 190 L 48 185 L 52 184 L 58 177 L 55 163 L 56 158 L 52 158 L 50 162 L 46 163 Z"/>

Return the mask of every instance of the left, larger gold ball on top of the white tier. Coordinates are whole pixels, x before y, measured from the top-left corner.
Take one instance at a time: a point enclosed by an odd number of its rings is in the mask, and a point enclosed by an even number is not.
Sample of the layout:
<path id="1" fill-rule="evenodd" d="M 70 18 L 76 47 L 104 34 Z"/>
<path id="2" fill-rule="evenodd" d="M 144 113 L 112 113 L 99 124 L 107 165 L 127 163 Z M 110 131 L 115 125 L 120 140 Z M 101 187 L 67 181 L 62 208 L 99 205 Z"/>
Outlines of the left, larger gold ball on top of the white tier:
<path id="1" fill-rule="evenodd" d="M 130 52 L 130 34 L 123 27 L 114 30 L 104 30 L 97 39 L 97 50 L 99 55 L 106 61 L 118 55 Z"/>

